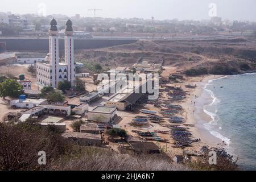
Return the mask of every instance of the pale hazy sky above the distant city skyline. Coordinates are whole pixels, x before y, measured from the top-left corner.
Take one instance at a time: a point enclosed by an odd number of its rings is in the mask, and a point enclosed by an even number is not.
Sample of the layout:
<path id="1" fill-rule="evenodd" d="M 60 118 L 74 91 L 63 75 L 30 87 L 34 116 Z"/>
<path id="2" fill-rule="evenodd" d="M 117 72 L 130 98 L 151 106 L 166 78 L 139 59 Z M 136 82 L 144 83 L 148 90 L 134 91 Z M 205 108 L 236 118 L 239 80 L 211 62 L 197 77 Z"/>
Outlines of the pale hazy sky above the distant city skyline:
<path id="1" fill-rule="evenodd" d="M 230 20 L 256 21 L 256 0 L 1 0 L 0 11 L 26 14 L 38 13 L 46 7 L 46 14 L 93 16 L 88 9 L 104 18 L 150 19 L 209 19 L 209 4 L 215 3 L 217 16 Z M 43 5 L 43 6 L 42 6 Z"/>

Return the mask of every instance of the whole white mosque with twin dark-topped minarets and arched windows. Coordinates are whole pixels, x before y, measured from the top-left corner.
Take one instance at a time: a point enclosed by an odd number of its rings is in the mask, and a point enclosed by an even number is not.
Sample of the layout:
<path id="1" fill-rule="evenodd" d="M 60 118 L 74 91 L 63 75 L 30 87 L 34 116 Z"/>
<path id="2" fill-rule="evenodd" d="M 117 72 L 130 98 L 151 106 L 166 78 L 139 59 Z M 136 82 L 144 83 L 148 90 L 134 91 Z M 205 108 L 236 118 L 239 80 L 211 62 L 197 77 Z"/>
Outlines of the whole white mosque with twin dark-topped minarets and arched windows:
<path id="1" fill-rule="evenodd" d="M 70 19 L 65 28 L 65 63 L 59 63 L 59 33 L 53 18 L 49 29 L 49 54 L 46 62 L 36 63 L 36 81 L 43 86 L 57 88 L 58 82 L 70 81 L 75 86 L 76 68 L 74 64 L 73 28 Z"/>

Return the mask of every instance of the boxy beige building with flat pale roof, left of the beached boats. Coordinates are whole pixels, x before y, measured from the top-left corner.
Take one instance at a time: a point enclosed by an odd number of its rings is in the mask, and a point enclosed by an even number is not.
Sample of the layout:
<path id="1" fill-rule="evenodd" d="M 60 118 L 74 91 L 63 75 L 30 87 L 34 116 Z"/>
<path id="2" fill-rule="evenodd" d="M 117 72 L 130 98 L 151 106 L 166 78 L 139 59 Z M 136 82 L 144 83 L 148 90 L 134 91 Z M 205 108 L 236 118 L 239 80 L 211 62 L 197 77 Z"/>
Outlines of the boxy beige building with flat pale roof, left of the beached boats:
<path id="1" fill-rule="evenodd" d="M 100 123 L 113 122 L 117 116 L 117 109 L 115 107 L 96 106 L 92 110 L 89 110 L 85 117 L 88 121 L 95 121 Z"/>

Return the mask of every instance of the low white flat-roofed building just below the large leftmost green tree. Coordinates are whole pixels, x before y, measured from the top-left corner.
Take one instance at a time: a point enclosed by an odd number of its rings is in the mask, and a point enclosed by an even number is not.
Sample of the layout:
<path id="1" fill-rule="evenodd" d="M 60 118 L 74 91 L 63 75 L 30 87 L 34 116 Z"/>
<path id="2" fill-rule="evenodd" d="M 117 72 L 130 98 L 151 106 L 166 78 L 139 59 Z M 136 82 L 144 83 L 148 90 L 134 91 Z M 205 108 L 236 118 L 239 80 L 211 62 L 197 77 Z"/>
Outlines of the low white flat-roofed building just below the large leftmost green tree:
<path id="1" fill-rule="evenodd" d="M 30 109 L 32 107 L 35 107 L 35 106 L 38 106 L 40 104 L 45 104 L 47 103 L 47 100 L 46 99 L 43 99 L 43 98 L 40 98 L 40 99 L 31 99 L 31 98 L 28 98 L 28 99 L 19 99 L 19 100 L 12 100 L 10 102 L 10 105 L 11 106 L 16 106 L 16 107 L 19 107 L 19 108 L 27 108 L 27 109 Z"/>

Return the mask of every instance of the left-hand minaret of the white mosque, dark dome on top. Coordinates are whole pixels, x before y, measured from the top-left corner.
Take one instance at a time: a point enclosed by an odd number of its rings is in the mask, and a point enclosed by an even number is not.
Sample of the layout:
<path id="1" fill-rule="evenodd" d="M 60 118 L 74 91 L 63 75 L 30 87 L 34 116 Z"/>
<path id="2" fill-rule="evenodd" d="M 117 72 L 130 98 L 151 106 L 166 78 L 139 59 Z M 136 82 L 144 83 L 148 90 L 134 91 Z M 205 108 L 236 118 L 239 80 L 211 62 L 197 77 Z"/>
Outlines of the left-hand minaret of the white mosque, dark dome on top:
<path id="1" fill-rule="evenodd" d="M 52 66 L 52 87 L 56 88 L 59 81 L 59 32 L 57 22 L 53 18 L 49 29 L 49 64 Z"/>

